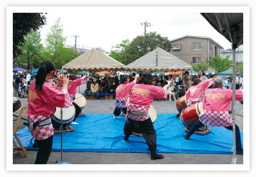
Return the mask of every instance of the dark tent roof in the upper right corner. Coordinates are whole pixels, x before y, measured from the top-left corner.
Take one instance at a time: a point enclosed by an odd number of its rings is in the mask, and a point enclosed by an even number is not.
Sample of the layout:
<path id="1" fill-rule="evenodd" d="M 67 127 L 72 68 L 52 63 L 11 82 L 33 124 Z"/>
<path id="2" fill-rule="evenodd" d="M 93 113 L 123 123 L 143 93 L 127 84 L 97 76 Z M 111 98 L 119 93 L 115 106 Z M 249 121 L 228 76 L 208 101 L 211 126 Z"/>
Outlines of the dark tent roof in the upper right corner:
<path id="1" fill-rule="evenodd" d="M 200 13 L 234 48 L 243 44 L 243 13 Z M 229 34 L 232 33 L 232 35 Z M 235 35 L 234 35 L 235 34 Z M 232 36 L 232 38 L 230 37 Z"/>

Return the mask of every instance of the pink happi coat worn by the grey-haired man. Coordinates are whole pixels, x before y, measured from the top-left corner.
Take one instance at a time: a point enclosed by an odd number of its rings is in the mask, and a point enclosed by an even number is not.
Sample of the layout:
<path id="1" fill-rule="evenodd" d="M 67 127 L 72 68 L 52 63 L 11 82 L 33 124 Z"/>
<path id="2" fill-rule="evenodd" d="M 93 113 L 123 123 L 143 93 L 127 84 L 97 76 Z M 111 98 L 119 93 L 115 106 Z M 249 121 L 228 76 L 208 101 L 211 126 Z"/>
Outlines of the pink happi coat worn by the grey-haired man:
<path id="1" fill-rule="evenodd" d="M 203 101 L 204 111 L 199 120 L 204 125 L 212 127 L 231 126 L 233 121 L 228 113 L 233 91 L 231 89 L 213 88 L 205 93 Z M 236 100 L 244 99 L 244 90 L 236 90 Z"/>

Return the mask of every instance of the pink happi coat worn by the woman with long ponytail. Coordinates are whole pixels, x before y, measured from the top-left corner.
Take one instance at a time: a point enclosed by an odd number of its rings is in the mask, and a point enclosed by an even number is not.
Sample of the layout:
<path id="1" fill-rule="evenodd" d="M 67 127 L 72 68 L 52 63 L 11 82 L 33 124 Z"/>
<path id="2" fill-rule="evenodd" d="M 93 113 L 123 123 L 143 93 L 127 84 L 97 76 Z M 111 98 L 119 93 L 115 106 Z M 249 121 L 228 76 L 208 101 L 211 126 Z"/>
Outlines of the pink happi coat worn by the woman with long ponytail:
<path id="1" fill-rule="evenodd" d="M 39 92 L 35 89 L 36 80 L 33 80 L 29 86 L 28 92 L 28 116 L 29 123 L 36 121 L 44 121 L 51 114 L 54 114 L 55 107 L 67 108 L 72 105 L 72 100 L 66 89 L 60 90 L 58 85 L 50 85 L 44 82 L 43 91 Z M 46 139 L 53 135 L 52 123 L 46 126 L 37 126 L 36 129 L 28 127 L 31 135 L 38 140 Z"/>

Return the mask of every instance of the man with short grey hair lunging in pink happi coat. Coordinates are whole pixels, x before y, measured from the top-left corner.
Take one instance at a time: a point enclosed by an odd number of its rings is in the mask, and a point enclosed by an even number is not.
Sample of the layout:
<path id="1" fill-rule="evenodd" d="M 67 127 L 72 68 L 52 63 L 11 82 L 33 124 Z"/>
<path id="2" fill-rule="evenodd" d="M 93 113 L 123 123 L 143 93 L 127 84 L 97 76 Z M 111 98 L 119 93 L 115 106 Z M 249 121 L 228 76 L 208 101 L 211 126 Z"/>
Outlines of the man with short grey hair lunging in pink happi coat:
<path id="1" fill-rule="evenodd" d="M 212 127 L 225 127 L 233 131 L 233 120 L 230 118 L 230 101 L 232 101 L 233 91 L 231 89 L 222 89 L 223 80 L 217 77 L 213 81 L 213 88 L 205 93 L 203 101 L 204 111 L 200 114 L 199 120 L 195 122 L 189 129 L 188 133 L 183 137 L 189 137 L 202 125 Z M 236 90 L 236 100 L 243 100 L 243 89 Z M 236 153 L 243 153 L 240 130 L 236 127 Z"/>

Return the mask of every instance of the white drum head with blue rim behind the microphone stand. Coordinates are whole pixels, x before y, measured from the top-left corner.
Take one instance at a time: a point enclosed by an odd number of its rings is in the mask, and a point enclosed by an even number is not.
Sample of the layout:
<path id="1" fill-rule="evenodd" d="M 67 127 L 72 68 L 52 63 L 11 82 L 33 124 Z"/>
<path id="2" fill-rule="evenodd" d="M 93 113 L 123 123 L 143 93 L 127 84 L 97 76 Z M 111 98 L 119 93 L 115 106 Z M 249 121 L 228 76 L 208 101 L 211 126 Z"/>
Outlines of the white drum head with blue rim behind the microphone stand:
<path id="1" fill-rule="evenodd" d="M 57 122 L 61 122 L 61 117 L 60 117 L 60 107 L 56 107 L 56 111 L 53 114 L 54 119 Z M 76 113 L 76 108 L 74 106 L 70 106 L 68 108 L 62 108 L 63 111 L 63 115 L 62 115 L 62 122 L 71 122 L 74 117 L 75 117 L 75 113 Z"/>

